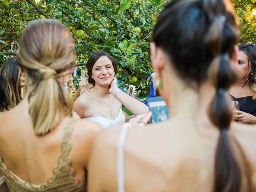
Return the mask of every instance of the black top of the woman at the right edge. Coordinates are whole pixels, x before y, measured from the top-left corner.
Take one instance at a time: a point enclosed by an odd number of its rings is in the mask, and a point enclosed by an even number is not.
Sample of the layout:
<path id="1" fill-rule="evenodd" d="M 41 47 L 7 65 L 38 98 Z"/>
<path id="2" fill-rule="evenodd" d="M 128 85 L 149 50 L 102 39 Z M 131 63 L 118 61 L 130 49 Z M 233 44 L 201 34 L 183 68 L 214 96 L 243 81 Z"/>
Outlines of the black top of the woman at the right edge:
<path id="1" fill-rule="evenodd" d="M 235 98 L 230 95 L 233 101 L 238 101 L 240 106 L 240 111 L 252 114 L 256 116 L 256 101 L 252 100 L 252 96 Z"/>

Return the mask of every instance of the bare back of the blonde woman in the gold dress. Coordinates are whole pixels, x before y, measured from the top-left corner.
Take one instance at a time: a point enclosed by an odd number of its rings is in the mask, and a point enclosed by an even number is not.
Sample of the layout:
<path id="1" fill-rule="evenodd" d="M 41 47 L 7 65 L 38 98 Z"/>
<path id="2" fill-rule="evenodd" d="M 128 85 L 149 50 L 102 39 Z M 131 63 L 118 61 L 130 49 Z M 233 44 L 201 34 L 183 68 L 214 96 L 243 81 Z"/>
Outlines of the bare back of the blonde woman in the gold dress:
<path id="1" fill-rule="evenodd" d="M 28 103 L 22 101 L 0 116 L 0 145 L 4 146 L 0 148 L 0 169 L 10 190 L 44 184 L 41 191 L 83 191 L 90 145 L 100 130 L 98 125 L 64 118 L 52 132 L 38 137 L 28 112 L 24 113 L 26 108 Z M 18 179 L 14 179 L 13 173 Z"/>

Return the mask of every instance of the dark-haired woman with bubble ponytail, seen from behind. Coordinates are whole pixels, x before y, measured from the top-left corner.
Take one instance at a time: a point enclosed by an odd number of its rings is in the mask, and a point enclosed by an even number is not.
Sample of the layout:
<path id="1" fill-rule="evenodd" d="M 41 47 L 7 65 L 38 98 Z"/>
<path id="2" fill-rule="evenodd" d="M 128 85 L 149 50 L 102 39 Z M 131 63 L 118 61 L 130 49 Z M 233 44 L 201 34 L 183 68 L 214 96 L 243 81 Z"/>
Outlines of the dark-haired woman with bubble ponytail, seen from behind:
<path id="1" fill-rule="evenodd" d="M 256 129 L 232 121 L 227 92 L 235 78 L 230 65 L 237 41 L 228 0 L 167 4 L 154 27 L 151 55 L 171 118 L 98 135 L 89 191 L 256 190 Z"/>

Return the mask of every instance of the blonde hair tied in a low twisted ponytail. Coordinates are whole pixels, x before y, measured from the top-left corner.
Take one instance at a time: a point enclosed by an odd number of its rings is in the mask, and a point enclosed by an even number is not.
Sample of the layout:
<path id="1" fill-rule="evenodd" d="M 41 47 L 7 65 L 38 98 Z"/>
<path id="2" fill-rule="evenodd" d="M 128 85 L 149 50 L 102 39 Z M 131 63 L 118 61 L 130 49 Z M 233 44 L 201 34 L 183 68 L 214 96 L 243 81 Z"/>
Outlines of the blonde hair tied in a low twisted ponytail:
<path id="1" fill-rule="evenodd" d="M 72 100 L 59 81 L 74 67 L 76 53 L 68 29 L 56 20 L 32 21 L 20 38 L 17 61 L 29 78 L 29 114 L 37 136 L 72 116 Z"/>

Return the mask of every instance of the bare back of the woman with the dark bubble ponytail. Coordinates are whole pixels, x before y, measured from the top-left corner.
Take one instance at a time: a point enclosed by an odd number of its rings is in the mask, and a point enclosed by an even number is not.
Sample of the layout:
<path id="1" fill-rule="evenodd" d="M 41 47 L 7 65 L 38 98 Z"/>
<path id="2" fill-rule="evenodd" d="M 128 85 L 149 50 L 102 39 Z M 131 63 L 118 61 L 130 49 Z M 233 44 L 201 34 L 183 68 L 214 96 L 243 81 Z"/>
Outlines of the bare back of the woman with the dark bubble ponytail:
<path id="1" fill-rule="evenodd" d="M 92 153 L 92 165 L 89 168 L 89 190 L 99 192 L 120 190 L 117 187 L 120 178 L 116 173 L 120 146 L 117 143 L 122 129 L 124 128 L 110 129 L 97 137 L 95 141 L 97 152 Z M 251 146 L 256 144 L 256 130 L 252 126 L 244 127 L 234 123 L 231 132 L 248 158 L 252 168 L 250 179 L 255 190 L 256 158 L 253 154 L 256 154 L 256 149 Z M 124 140 L 125 191 L 211 192 L 214 184 L 214 158 L 218 136 L 218 130 L 209 122 L 195 125 L 192 120 L 185 122 L 180 118 L 129 128 Z M 100 150 L 103 148 L 104 150 Z M 99 161 L 102 159 L 104 163 L 100 164 Z M 101 172 L 101 170 L 105 171 Z"/>

